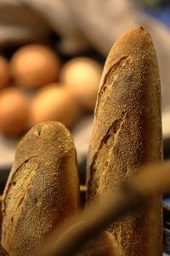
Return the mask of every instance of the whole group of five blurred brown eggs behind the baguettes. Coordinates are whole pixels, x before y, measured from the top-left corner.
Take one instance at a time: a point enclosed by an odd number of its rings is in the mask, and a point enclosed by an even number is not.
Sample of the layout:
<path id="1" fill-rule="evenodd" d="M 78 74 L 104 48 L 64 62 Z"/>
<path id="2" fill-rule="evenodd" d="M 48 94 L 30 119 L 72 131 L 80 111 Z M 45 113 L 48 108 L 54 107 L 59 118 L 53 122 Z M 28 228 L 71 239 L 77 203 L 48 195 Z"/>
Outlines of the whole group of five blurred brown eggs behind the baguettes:
<path id="1" fill-rule="evenodd" d="M 77 57 L 61 65 L 41 44 L 21 47 L 9 62 L 0 56 L 0 131 L 18 136 L 48 120 L 70 129 L 81 109 L 94 110 L 100 76 L 98 62 Z"/>

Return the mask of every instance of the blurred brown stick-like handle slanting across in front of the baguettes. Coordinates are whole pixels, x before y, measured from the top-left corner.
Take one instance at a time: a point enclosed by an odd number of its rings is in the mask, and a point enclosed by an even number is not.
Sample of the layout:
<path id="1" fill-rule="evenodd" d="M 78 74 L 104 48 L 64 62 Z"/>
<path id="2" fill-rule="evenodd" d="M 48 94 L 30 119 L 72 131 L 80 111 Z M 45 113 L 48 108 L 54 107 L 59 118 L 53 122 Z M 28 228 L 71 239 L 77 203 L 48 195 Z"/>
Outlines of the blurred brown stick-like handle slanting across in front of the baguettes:
<path id="1" fill-rule="evenodd" d="M 77 224 L 66 230 L 62 236 L 59 237 L 58 230 L 55 230 L 53 236 L 35 255 L 75 255 L 87 241 L 99 235 L 99 232 L 123 214 L 137 209 L 146 199 L 167 191 L 170 191 L 170 161 L 145 167 L 139 170 L 139 175 L 126 186 L 117 189 L 115 193 L 110 193 L 107 201 L 89 207 L 85 217 L 81 213 L 77 218 Z"/>

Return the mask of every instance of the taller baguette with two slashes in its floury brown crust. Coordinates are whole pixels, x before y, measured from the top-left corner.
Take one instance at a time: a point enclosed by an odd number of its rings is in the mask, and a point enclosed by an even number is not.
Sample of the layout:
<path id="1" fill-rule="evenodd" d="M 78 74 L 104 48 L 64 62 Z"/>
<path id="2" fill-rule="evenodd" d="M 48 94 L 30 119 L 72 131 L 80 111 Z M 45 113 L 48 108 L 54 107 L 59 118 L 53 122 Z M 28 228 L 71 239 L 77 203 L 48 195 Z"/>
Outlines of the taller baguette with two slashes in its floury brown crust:
<path id="1" fill-rule="evenodd" d="M 88 154 L 88 204 L 162 160 L 161 87 L 150 34 L 139 26 L 125 32 L 105 62 Z M 109 231 L 123 256 L 162 255 L 161 195 Z"/>

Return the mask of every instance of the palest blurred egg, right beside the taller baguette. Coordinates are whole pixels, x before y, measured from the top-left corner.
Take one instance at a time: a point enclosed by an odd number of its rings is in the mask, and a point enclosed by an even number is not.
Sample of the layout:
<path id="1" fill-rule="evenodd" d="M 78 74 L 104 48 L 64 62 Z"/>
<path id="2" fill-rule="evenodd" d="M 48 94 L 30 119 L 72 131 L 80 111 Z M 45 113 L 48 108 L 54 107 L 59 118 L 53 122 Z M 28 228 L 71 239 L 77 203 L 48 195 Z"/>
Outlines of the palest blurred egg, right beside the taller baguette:
<path id="1" fill-rule="evenodd" d="M 93 110 L 101 72 L 102 68 L 96 61 L 78 57 L 65 64 L 60 73 L 60 80 L 84 108 Z"/>

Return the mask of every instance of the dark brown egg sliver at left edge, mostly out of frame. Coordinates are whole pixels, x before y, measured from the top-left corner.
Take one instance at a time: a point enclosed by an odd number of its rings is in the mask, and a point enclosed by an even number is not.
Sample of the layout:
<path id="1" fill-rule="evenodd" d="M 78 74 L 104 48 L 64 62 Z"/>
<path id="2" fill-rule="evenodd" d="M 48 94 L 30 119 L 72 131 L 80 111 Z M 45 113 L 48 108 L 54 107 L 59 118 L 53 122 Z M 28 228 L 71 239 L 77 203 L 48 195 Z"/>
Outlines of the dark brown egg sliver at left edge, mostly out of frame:
<path id="1" fill-rule="evenodd" d="M 0 55 L 0 89 L 8 85 L 9 67 L 8 61 Z"/>

